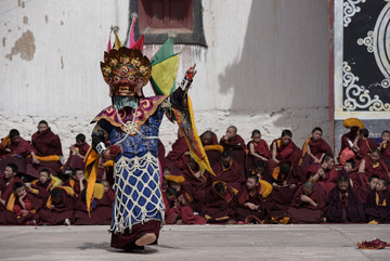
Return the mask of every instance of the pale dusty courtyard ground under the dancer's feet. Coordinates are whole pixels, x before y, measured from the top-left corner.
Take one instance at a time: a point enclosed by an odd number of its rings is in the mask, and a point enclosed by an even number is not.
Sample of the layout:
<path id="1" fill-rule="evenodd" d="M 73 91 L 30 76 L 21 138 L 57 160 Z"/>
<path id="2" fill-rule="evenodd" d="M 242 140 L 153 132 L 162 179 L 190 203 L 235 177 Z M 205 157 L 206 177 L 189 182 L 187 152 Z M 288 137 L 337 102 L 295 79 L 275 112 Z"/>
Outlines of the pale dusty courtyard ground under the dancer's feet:
<path id="1" fill-rule="evenodd" d="M 144 253 L 109 247 L 108 226 L 0 226 L 1 260 L 390 260 L 390 225 L 166 225 Z"/>

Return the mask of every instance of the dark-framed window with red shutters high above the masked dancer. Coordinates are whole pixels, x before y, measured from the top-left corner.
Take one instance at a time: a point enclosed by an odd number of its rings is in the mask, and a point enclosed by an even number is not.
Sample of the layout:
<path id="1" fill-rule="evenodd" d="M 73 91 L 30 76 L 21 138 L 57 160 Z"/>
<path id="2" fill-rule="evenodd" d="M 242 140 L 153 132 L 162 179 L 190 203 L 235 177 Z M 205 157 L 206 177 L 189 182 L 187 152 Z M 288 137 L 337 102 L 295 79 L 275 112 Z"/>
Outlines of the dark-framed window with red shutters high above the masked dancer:
<path id="1" fill-rule="evenodd" d="M 172 34 L 174 43 L 207 47 L 202 12 L 202 0 L 130 0 L 130 13 L 139 15 L 135 35 L 147 28 L 146 44 L 161 44 Z"/>

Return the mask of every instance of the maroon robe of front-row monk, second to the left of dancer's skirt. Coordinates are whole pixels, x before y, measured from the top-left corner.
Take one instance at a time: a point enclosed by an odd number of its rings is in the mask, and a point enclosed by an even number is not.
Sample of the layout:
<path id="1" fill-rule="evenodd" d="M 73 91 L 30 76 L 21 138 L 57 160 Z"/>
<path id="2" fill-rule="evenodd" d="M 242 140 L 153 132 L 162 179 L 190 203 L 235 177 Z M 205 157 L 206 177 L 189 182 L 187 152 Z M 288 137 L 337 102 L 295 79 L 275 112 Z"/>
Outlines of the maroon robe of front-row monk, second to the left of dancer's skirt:
<path id="1" fill-rule="evenodd" d="M 62 193 L 62 203 L 55 205 L 53 208 L 44 206 L 38 211 L 39 218 L 43 223 L 50 225 L 62 225 L 65 219 L 69 219 L 70 222 L 74 220 L 74 208 L 76 204 L 76 197 L 68 194 L 64 188 Z"/>

